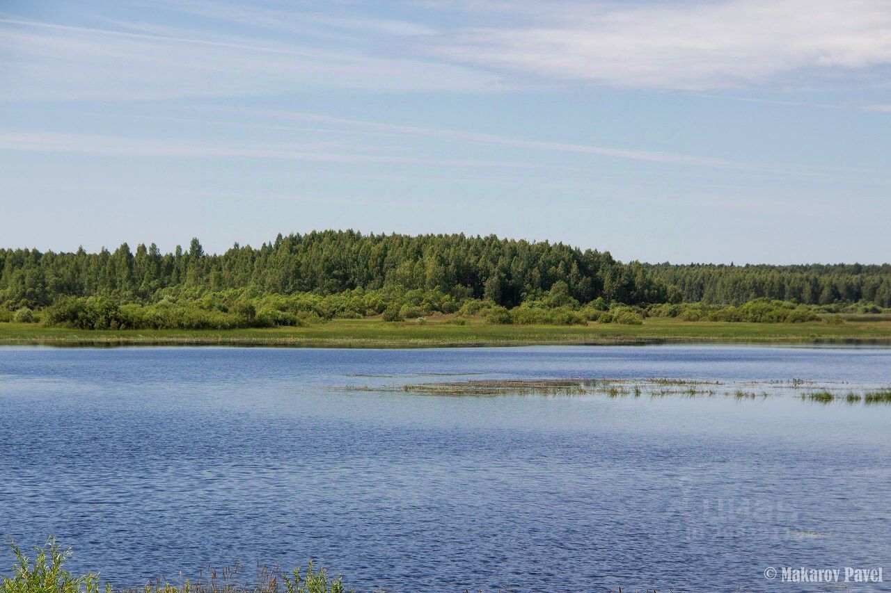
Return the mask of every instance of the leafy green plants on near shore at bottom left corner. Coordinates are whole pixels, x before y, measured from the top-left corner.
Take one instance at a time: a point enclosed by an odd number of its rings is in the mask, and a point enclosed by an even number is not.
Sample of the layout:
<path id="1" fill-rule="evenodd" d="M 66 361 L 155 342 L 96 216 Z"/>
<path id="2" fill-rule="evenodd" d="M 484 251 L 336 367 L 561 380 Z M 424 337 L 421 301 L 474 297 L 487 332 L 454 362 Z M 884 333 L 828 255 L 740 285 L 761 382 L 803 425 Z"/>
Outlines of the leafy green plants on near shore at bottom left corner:
<path id="1" fill-rule="evenodd" d="M 62 549 L 56 540 L 50 538 L 45 546 L 36 548 L 32 560 L 11 542 L 15 563 L 12 576 L 0 581 L 0 593 L 347 593 L 343 581 L 338 576 L 331 579 L 324 568 L 315 569 L 309 561 L 306 573 L 294 569 L 290 573 L 261 568 L 257 580 L 252 585 L 239 581 L 239 568 L 225 570 L 217 576 L 211 571 L 207 581 L 186 580 L 181 585 L 166 581 L 150 581 L 136 589 L 112 587 L 110 583 L 100 584 L 98 573 L 75 575 L 65 569 L 65 560 L 71 550 Z M 350 593 L 353 589 L 349 589 Z"/>

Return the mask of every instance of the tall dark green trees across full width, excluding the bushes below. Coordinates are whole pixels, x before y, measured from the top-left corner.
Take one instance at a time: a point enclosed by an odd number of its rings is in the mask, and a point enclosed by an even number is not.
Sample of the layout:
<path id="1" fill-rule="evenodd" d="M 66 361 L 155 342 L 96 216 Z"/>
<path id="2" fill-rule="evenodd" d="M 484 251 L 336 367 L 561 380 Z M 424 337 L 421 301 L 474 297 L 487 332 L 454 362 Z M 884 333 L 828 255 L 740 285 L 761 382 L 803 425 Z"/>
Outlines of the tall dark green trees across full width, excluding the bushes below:
<path id="1" fill-rule="evenodd" d="M 363 234 L 323 231 L 279 235 L 259 248 L 235 244 L 207 254 L 161 253 L 151 244 L 113 252 L 0 249 L 0 304 L 42 309 L 62 297 L 102 296 L 149 304 L 183 291 L 192 296 L 249 289 L 258 295 L 338 295 L 345 291 L 421 291 L 454 302 L 486 299 L 513 308 L 560 291 L 580 304 L 739 305 L 767 297 L 805 305 L 870 301 L 891 306 L 891 265 L 714 265 L 621 263 L 608 251 L 489 235 Z"/>

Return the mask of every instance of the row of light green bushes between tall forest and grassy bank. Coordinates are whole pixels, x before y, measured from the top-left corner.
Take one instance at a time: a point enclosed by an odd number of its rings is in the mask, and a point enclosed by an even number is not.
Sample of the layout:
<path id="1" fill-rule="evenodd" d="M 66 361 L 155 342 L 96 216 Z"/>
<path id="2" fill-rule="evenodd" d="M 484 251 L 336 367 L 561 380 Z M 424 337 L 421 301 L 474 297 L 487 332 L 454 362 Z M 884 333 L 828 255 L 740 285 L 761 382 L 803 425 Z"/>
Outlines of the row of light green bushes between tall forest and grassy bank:
<path id="1" fill-rule="evenodd" d="M 870 309 L 868 305 L 861 305 Z M 495 324 L 574 325 L 588 322 L 639 325 L 647 317 L 684 321 L 804 322 L 819 319 L 824 308 L 766 298 L 739 306 L 705 303 L 622 305 L 597 298 L 585 305 L 556 282 L 548 292 L 529 295 L 511 309 L 489 299 L 456 297 L 440 290 L 399 287 L 356 288 L 336 295 L 264 294 L 252 289 L 205 292 L 200 288 L 160 290 L 151 303 L 121 303 L 109 296 L 61 297 L 42 311 L 0 309 L 0 321 L 37 322 L 76 329 L 233 329 L 305 326 L 334 318 L 379 316 L 405 321 L 434 313 L 482 317 Z M 829 319 L 829 318 L 828 318 Z"/>

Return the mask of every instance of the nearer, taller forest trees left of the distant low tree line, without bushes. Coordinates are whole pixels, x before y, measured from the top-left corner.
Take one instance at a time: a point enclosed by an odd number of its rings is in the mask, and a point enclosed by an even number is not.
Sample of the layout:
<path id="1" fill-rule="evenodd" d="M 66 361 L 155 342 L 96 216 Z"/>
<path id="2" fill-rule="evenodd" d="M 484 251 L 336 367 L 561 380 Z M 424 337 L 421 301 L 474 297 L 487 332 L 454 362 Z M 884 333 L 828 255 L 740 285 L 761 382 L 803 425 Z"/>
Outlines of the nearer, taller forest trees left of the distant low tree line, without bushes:
<path id="1" fill-rule="evenodd" d="M 205 254 L 197 239 L 188 250 L 167 254 L 153 244 L 134 252 L 127 243 L 97 254 L 3 249 L 0 267 L 4 302 L 32 308 L 50 305 L 61 295 L 149 300 L 161 288 L 179 286 L 210 291 L 252 287 L 284 295 L 439 288 L 512 306 L 563 280 L 583 303 L 597 296 L 629 304 L 673 297 L 641 264 L 619 264 L 609 253 L 495 236 L 311 232 L 279 235 L 260 248 L 236 244 L 222 255 Z"/>

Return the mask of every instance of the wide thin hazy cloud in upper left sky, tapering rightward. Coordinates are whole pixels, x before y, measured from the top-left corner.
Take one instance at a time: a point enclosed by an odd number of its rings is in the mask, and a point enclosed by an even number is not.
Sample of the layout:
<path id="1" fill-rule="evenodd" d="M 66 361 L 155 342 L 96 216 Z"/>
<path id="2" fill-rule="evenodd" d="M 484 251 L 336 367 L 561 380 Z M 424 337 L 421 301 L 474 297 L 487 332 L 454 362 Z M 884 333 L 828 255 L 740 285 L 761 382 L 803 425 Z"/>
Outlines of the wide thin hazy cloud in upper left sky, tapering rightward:
<path id="1" fill-rule="evenodd" d="M 450 92 L 503 86 L 494 75 L 441 61 L 374 56 L 356 48 L 318 47 L 292 39 L 181 33 L 0 19 L 0 55 L 6 61 L 0 98 L 151 100 L 320 89 Z"/>

